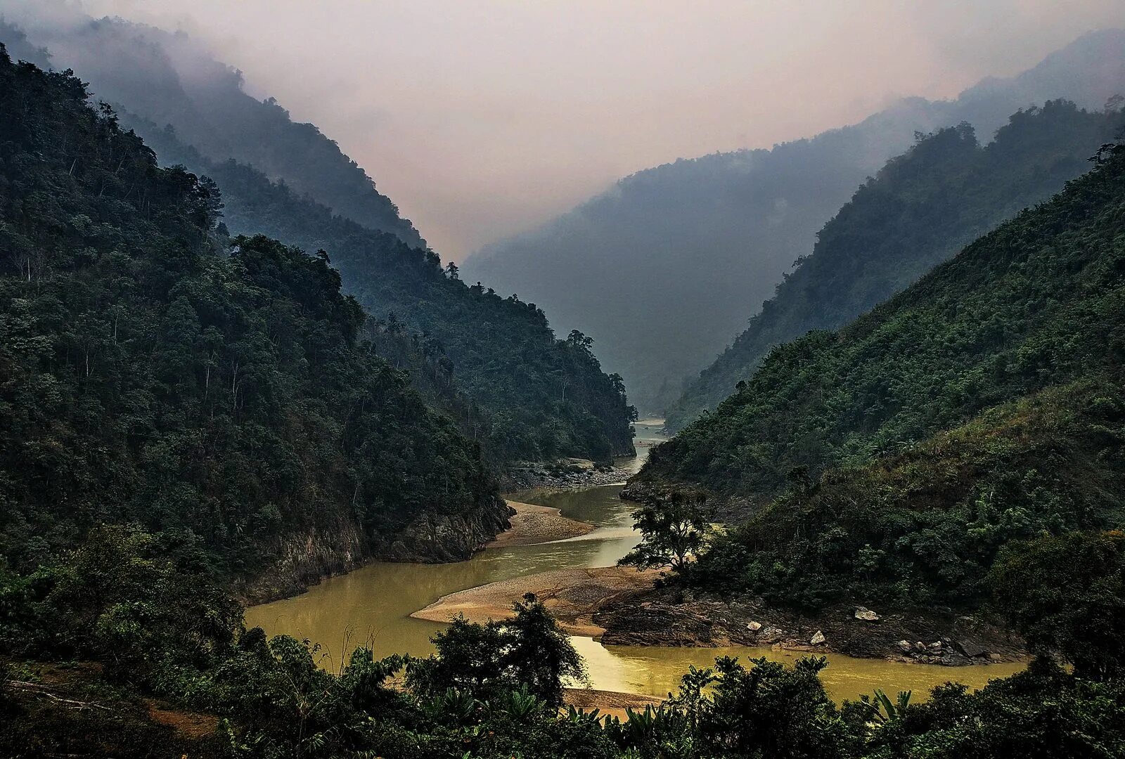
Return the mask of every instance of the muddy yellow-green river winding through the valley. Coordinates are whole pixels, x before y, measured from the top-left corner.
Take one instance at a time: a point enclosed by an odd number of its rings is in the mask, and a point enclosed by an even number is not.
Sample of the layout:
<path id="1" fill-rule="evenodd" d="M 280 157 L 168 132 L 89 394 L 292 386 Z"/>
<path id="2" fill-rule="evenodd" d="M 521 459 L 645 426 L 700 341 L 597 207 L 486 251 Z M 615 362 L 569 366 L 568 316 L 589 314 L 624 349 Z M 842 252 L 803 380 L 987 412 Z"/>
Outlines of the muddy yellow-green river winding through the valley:
<path id="1" fill-rule="evenodd" d="M 627 466 L 639 467 L 648 445 L 660 440 L 657 423 L 638 424 L 638 453 Z M 322 647 L 322 665 L 335 669 L 342 653 L 370 645 L 377 657 L 390 653 L 426 654 L 430 636 L 443 625 L 416 620 L 411 613 L 457 590 L 552 569 L 609 567 L 636 543 L 629 512 L 633 507 L 618 495 L 621 486 L 577 490 L 532 490 L 513 494 L 514 500 L 560 508 L 565 516 L 597 525 L 582 537 L 539 545 L 485 549 L 468 561 L 451 564 L 372 563 L 348 575 L 324 580 L 294 598 L 246 609 L 246 625 L 261 626 L 270 635 L 309 639 Z M 690 649 L 666 647 L 602 645 L 590 638 L 573 638 L 586 660 L 591 685 L 665 696 L 675 690 L 688 665 L 709 666 L 722 654 L 768 657 L 793 661 L 796 652 L 734 647 Z M 853 659 L 828 654 L 821 672 L 825 686 L 837 701 L 855 698 L 874 688 L 914 690 L 916 697 L 946 680 L 980 687 L 990 678 L 1005 677 L 1023 668 L 1019 663 L 988 667 L 938 667 Z"/>

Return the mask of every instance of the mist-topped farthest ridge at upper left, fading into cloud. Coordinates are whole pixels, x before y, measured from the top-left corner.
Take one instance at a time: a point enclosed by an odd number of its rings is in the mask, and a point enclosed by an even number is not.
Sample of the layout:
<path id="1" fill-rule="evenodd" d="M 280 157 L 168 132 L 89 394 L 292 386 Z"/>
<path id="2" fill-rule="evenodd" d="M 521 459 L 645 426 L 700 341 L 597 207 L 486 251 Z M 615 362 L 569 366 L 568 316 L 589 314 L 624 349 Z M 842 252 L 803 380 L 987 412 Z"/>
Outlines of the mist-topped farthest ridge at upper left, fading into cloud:
<path id="1" fill-rule="evenodd" d="M 298 195 L 415 247 L 425 241 L 398 208 L 335 142 L 313 124 L 298 124 L 272 98 L 243 91 L 242 73 L 216 61 L 182 33 L 117 18 L 43 22 L 22 30 L 0 25 L 0 42 L 26 34 L 56 69 L 73 69 L 97 99 L 125 106 L 180 136 L 212 161 L 254 165 Z M 24 46 L 11 47 L 15 58 Z M 33 61 L 39 63 L 40 61 Z M 148 135 L 142 135 L 147 137 Z"/>

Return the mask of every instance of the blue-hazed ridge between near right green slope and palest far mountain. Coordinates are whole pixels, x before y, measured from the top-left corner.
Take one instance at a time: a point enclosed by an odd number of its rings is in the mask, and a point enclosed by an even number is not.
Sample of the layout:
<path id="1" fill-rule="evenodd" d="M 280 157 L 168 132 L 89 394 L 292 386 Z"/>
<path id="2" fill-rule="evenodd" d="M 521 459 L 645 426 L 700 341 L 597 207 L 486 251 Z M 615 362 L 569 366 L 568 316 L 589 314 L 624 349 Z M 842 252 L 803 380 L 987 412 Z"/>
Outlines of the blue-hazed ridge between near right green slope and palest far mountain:
<path id="1" fill-rule="evenodd" d="M 1065 101 L 1015 114 L 981 146 L 962 124 L 922 137 L 865 182 L 762 310 L 668 409 L 682 428 L 747 379 L 770 349 L 871 309 L 1022 208 L 1062 189 L 1112 139 L 1120 111 Z"/>

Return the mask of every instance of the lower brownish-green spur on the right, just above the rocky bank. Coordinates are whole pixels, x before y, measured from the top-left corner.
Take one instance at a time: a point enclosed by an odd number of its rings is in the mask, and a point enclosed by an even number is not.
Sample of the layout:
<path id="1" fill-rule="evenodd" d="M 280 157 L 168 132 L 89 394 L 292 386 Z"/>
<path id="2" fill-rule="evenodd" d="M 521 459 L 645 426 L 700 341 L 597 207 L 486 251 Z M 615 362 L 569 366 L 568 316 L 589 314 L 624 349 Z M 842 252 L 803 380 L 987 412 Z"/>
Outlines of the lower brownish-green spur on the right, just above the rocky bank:
<path id="1" fill-rule="evenodd" d="M 1123 454 L 1119 383 L 1051 388 L 792 487 L 717 540 L 687 579 L 806 607 L 978 605 L 1005 545 L 1125 524 Z"/>

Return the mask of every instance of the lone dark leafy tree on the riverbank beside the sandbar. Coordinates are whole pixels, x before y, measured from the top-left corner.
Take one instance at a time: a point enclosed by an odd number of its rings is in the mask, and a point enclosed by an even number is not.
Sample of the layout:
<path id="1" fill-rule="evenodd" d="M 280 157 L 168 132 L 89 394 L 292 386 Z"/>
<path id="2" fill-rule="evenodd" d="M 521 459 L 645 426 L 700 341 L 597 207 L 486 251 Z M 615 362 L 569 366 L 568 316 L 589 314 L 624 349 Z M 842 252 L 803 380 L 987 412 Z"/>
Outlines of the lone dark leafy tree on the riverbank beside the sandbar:
<path id="1" fill-rule="evenodd" d="M 638 569 L 670 567 L 683 572 L 706 540 L 708 518 L 702 503 L 693 494 L 674 493 L 655 505 L 632 513 L 640 544 L 618 563 Z"/>

